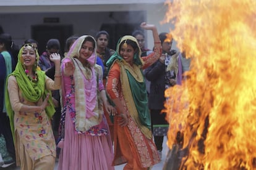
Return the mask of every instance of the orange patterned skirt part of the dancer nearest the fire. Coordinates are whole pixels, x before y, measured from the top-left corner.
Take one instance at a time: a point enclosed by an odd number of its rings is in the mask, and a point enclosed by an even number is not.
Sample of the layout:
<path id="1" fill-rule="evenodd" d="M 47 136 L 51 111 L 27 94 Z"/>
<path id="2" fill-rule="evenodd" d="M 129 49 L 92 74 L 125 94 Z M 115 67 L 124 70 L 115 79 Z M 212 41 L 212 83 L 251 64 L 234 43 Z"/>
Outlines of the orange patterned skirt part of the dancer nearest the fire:
<path id="1" fill-rule="evenodd" d="M 125 127 L 118 126 L 117 119 L 114 119 L 115 153 L 113 165 L 127 163 L 124 169 L 148 169 L 159 162 L 155 143 L 139 132 L 139 127 L 133 127 L 132 131 L 137 134 L 132 134 L 129 129 L 130 126 L 135 126 L 132 118 L 129 118 L 129 125 Z M 134 139 L 135 136 L 137 139 Z"/>

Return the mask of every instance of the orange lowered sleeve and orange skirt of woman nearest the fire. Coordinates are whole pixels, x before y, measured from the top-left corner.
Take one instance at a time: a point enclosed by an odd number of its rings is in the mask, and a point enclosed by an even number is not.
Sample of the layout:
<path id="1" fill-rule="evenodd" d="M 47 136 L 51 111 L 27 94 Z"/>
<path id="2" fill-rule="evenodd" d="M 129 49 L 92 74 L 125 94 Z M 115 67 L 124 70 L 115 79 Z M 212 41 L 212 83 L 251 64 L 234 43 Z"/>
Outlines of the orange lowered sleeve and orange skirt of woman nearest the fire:
<path id="1" fill-rule="evenodd" d="M 121 88 L 121 83 L 117 83 L 120 76 L 120 68 L 114 63 L 113 70 L 109 72 L 108 94 L 111 99 L 118 99 L 127 110 L 126 100 Z M 112 89 L 113 87 L 116 87 Z M 119 95 L 117 95 L 117 93 Z M 119 113 L 118 113 L 119 114 Z M 160 162 L 153 139 L 148 139 L 140 130 L 139 126 L 129 116 L 127 126 L 118 125 L 117 116 L 114 117 L 114 161 L 113 165 L 127 163 L 124 169 L 148 169 Z"/>

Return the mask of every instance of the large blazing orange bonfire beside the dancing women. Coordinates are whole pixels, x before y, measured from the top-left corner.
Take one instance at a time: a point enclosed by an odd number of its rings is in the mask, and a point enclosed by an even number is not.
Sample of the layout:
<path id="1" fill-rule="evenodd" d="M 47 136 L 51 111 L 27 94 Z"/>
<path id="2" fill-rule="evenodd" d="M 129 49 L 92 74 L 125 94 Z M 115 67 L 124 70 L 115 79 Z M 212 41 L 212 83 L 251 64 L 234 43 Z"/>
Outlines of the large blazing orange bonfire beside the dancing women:
<path id="1" fill-rule="evenodd" d="M 165 92 L 168 147 L 180 169 L 256 168 L 256 1 L 173 0 L 163 23 L 191 58 L 182 86 Z M 182 134 L 182 142 L 176 139 Z"/>

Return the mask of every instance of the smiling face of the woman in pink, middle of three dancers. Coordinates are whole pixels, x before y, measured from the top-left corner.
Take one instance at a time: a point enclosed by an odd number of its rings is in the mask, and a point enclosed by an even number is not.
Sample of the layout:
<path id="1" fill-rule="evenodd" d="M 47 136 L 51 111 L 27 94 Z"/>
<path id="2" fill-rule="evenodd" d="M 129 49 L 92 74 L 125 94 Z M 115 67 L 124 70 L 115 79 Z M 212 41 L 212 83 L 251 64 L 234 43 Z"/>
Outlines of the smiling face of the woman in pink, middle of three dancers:
<path id="1" fill-rule="evenodd" d="M 93 54 L 94 47 L 93 42 L 91 41 L 85 41 L 82 44 L 82 47 L 79 51 L 79 60 L 80 62 L 85 62 L 91 55 Z"/>

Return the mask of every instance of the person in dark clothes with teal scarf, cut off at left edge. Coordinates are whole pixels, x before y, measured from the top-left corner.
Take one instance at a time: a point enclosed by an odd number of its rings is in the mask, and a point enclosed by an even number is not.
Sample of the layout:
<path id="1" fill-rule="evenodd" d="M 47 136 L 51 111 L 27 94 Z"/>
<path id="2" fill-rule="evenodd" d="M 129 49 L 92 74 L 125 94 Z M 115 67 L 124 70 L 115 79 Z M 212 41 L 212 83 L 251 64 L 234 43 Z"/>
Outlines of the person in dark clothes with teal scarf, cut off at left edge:
<path id="1" fill-rule="evenodd" d="M 0 154 L 3 163 L 1 166 L 7 167 L 15 163 L 15 148 L 10 127 L 10 120 L 6 113 L 5 89 L 6 78 L 12 73 L 15 67 L 15 59 L 12 55 L 12 38 L 10 34 L 0 34 Z"/>

